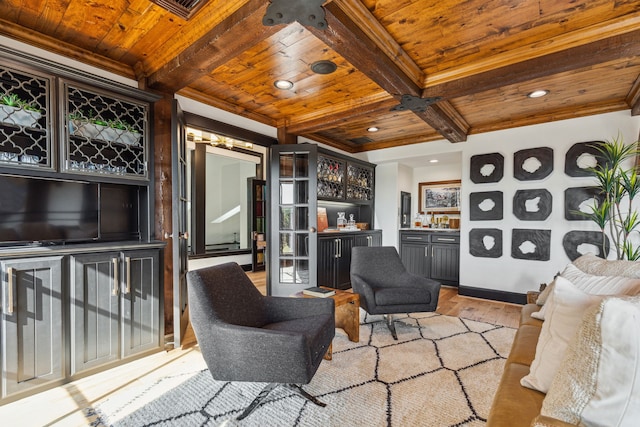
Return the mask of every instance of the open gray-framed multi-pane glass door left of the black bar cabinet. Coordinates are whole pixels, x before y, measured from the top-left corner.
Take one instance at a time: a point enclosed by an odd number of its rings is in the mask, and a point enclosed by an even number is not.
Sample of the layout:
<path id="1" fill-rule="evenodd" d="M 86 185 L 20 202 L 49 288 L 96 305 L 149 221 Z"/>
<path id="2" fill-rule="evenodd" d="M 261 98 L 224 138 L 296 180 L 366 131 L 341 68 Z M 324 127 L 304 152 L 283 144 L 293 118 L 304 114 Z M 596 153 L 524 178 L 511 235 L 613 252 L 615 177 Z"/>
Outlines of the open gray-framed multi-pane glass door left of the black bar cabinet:
<path id="1" fill-rule="evenodd" d="M 317 283 L 317 147 L 271 147 L 269 295 L 290 296 Z"/>

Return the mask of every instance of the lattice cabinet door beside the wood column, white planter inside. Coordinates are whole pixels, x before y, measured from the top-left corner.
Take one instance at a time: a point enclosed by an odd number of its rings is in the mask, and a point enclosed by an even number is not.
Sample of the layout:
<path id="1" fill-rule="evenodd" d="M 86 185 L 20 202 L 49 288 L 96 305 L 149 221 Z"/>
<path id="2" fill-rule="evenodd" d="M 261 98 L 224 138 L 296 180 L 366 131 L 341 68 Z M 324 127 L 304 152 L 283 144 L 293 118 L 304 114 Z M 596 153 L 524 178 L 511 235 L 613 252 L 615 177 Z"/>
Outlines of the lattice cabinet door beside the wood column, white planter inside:
<path id="1" fill-rule="evenodd" d="M 70 82 L 62 92 L 64 171 L 148 179 L 148 104 Z"/>

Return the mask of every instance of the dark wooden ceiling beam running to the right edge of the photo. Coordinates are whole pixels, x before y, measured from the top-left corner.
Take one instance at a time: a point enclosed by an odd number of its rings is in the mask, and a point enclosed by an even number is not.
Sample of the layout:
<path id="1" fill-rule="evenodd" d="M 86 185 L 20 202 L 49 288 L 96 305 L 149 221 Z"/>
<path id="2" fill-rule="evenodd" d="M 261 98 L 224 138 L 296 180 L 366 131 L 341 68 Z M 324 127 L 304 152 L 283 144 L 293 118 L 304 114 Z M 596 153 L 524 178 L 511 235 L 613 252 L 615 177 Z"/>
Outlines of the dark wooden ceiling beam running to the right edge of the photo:
<path id="1" fill-rule="evenodd" d="M 421 96 L 452 99 L 497 89 L 565 71 L 640 55 L 640 30 L 627 32 L 560 52 L 483 71 L 456 80 L 428 86 Z"/>

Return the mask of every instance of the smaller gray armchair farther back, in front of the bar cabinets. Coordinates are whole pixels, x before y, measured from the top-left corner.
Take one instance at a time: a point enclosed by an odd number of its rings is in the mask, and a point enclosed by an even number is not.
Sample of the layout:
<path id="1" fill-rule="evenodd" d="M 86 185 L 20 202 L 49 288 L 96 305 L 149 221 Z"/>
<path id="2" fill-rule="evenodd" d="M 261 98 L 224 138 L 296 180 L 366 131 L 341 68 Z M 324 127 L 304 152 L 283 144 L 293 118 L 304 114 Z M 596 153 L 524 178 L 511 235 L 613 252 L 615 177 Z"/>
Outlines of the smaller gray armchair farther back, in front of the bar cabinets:
<path id="1" fill-rule="evenodd" d="M 393 314 L 435 311 L 440 283 L 409 273 L 393 246 L 357 246 L 351 250 L 351 287 L 369 314 L 384 314 L 398 339 Z"/>

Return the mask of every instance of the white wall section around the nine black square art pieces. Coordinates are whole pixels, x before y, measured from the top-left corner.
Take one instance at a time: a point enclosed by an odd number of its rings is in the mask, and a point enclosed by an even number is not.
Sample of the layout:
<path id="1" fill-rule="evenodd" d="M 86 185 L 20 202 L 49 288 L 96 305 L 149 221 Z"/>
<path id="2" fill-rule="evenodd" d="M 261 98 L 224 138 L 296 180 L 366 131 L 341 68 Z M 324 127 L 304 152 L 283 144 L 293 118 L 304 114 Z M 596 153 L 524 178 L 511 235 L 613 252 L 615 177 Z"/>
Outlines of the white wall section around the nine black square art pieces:
<path id="1" fill-rule="evenodd" d="M 504 219 L 502 221 L 470 221 L 469 210 L 462 212 L 460 283 L 464 286 L 525 293 L 549 282 L 570 261 L 562 246 L 562 238 L 570 230 L 597 230 L 591 221 L 567 221 L 564 218 L 564 190 L 569 187 L 591 186 L 593 178 L 570 177 L 564 172 L 565 153 L 577 142 L 610 140 L 618 132 L 627 143 L 636 141 L 640 117 L 629 111 L 558 121 L 536 126 L 473 135 L 465 144 L 462 167 L 462 198 L 469 200 L 474 191 L 502 191 Z M 551 147 L 554 150 L 553 172 L 540 181 L 518 181 L 513 177 L 513 154 L 524 148 Z M 504 156 L 504 178 L 495 184 L 474 184 L 470 181 L 470 158 L 476 154 L 498 152 Z M 544 221 L 522 221 L 513 215 L 512 200 L 519 189 L 547 189 L 553 196 L 550 216 Z M 471 228 L 503 230 L 503 254 L 500 258 L 477 258 L 469 254 L 468 232 Z M 549 261 L 514 259 L 511 256 L 511 232 L 514 228 L 551 230 Z"/>

